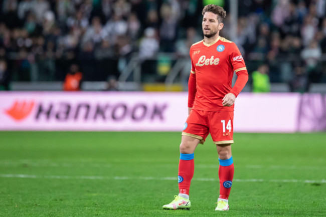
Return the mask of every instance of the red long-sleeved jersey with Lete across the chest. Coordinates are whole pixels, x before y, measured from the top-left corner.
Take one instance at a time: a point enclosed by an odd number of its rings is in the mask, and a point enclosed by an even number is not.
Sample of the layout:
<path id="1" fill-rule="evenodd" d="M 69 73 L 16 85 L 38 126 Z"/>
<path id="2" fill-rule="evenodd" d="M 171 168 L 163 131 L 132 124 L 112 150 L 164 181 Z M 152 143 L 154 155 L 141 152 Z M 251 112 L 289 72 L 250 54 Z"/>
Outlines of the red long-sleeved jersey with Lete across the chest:
<path id="1" fill-rule="evenodd" d="M 211 44 L 204 40 L 193 44 L 190 58 L 188 107 L 214 112 L 233 111 L 234 105 L 224 107 L 222 99 L 228 93 L 237 97 L 248 81 L 247 68 L 238 47 L 219 36 Z M 238 78 L 232 88 L 234 72 Z"/>

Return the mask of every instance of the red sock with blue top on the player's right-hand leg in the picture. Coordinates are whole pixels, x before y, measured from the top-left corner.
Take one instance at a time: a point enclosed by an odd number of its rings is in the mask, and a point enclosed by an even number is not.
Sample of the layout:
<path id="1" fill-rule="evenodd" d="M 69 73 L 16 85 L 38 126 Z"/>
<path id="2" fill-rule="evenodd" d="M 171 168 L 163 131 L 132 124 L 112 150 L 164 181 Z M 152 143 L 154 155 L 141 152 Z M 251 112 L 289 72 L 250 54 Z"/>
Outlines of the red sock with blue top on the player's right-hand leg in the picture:
<path id="1" fill-rule="evenodd" d="M 234 165 L 232 157 L 227 160 L 221 160 L 219 167 L 219 178 L 220 178 L 220 196 L 219 198 L 228 199 L 231 191 Z"/>

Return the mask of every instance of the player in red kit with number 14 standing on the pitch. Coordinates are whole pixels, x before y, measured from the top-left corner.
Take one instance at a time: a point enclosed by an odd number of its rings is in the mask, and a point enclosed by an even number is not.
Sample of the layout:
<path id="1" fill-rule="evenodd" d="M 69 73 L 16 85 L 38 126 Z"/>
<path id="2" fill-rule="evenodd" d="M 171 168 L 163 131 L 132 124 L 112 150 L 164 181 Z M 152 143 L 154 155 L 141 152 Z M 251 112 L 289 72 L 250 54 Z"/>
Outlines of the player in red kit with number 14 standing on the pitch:
<path id="1" fill-rule="evenodd" d="M 194 151 L 209 133 L 219 155 L 220 195 L 215 210 L 229 209 L 228 198 L 234 174 L 234 101 L 248 81 L 248 72 L 237 46 L 219 36 L 226 12 L 207 5 L 202 12 L 204 40 L 190 48 L 192 70 L 189 78 L 189 116 L 182 132 L 179 161 L 179 195 L 164 209 L 189 209 L 190 182 L 194 175 Z M 232 88 L 233 73 L 237 80 Z"/>

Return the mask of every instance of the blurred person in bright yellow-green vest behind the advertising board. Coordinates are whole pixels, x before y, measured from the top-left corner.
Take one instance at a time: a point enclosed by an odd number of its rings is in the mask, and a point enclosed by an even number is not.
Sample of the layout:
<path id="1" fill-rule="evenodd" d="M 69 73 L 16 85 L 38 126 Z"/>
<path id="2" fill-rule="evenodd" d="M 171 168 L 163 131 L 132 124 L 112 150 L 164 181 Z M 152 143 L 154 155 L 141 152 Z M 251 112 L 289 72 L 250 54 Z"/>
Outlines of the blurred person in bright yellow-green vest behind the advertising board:
<path id="1" fill-rule="evenodd" d="M 263 64 L 257 71 L 252 73 L 252 92 L 267 93 L 270 92 L 270 82 L 268 77 L 268 65 Z"/>

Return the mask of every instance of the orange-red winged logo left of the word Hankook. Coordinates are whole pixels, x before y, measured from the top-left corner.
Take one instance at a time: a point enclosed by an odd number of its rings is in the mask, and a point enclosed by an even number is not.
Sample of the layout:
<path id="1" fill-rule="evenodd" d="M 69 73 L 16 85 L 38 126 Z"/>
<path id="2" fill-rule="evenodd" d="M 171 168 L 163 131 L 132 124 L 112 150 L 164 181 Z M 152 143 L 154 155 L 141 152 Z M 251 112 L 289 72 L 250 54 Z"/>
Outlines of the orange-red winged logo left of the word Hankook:
<path id="1" fill-rule="evenodd" d="M 14 105 L 6 110 L 6 113 L 17 121 L 21 121 L 29 116 L 34 108 L 34 101 L 18 101 L 16 100 Z"/>

